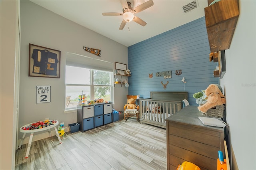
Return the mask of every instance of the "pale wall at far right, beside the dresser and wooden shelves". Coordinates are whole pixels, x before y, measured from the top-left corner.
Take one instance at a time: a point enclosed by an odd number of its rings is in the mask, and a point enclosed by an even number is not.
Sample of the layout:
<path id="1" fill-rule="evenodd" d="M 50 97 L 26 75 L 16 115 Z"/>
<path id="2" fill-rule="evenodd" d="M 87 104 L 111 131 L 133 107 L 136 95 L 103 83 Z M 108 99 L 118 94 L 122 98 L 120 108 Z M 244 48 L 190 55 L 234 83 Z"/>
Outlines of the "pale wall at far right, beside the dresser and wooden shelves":
<path id="1" fill-rule="evenodd" d="M 256 2 L 241 0 L 240 16 L 226 50 L 226 74 L 220 79 L 226 95 L 230 126 L 229 152 L 233 170 L 256 169 Z M 236 165 L 237 163 L 237 165 Z"/>

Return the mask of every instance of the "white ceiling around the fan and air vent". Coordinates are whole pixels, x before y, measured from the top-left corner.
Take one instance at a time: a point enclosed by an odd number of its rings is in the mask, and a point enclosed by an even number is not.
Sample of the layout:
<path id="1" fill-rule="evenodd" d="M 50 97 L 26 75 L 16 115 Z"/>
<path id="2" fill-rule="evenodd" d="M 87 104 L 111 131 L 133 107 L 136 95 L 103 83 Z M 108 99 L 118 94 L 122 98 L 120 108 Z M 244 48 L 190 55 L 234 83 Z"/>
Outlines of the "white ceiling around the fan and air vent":
<path id="1" fill-rule="evenodd" d="M 128 24 L 123 30 L 119 30 L 122 16 L 102 16 L 102 12 L 122 13 L 119 0 L 31 1 L 127 47 L 201 18 L 204 16 L 204 8 L 208 6 L 207 0 L 197 0 L 199 7 L 185 14 L 182 6 L 193 0 L 153 0 L 153 6 L 135 14 L 147 25 L 143 27 L 132 21 L 129 31 Z M 136 7 L 147 0 L 127 1 L 132 3 L 132 7 Z"/>

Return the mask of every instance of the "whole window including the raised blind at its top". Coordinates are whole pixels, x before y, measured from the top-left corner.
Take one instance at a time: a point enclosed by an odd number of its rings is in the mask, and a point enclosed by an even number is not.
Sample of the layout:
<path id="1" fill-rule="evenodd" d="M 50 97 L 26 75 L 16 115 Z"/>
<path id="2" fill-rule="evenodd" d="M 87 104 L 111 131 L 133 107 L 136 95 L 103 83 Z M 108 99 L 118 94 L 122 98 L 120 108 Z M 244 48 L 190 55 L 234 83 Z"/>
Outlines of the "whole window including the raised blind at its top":
<path id="1" fill-rule="evenodd" d="M 86 95 L 86 103 L 99 98 L 112 101 L 112 65 L 106 61 L 66 53 L 66 110 L 76 109 L 79 95 L 82 94 Z"/>

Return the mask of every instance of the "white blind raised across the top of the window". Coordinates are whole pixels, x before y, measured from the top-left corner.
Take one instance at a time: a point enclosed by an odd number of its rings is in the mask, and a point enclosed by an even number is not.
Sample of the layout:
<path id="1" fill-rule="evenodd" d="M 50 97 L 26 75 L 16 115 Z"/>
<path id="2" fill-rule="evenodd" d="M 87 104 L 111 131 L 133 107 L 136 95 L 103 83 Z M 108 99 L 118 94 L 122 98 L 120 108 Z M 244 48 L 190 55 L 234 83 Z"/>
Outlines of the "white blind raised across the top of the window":
<path id="1" fill-rule="evenodd" d="M 84 55 L 66 52 L 66 65 L 102 71 L 113 71 L 113 63 Z"/>

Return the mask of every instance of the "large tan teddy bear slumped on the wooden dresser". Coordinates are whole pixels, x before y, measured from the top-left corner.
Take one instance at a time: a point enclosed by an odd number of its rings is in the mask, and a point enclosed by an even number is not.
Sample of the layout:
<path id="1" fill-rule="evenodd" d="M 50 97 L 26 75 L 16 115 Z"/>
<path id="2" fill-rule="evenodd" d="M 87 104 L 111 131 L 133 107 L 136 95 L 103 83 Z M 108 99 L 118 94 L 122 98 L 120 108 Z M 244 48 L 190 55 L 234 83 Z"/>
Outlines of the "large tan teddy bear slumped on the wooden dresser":
<path id="1" fill-rule="evenodd" d="M 226 103 L 225 96 L 215 84 L 210 84 L 204 93 L 207 96 L 207 102 L 198 107 L 198 110 L 202 113 L 206 113 L 212 107 Z"/>

